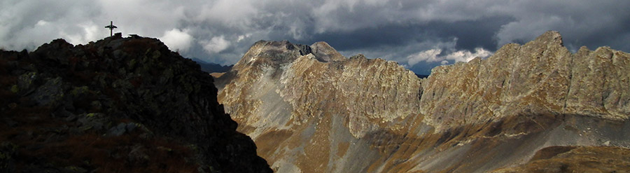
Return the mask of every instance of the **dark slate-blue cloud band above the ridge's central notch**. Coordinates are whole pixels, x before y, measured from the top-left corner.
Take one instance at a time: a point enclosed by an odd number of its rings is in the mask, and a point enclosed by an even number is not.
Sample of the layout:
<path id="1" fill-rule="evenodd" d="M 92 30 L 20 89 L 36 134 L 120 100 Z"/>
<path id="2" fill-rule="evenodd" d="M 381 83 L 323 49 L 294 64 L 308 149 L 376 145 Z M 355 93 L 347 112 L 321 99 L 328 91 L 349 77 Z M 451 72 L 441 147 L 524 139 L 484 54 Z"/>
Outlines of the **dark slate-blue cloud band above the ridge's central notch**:
<path id="1" fill-rule="evenodd" d="M 303 42 L 326 41 L 337 50 L 360 50 L 384 46 L 405 46 L 421 41 L 448 42 L 457 38 L 455 49 L 474 50 L 486 48 L 496 50 L 492 38 L 501 25 L 510 18 L 483 18 L 459 22 L 389 23 L 377 27 L 356 29 L 351 32 L 325 32 L 314 34 Z M 417 51 L 417 50 L 416 50 Z"/>

